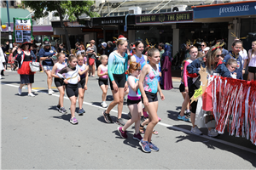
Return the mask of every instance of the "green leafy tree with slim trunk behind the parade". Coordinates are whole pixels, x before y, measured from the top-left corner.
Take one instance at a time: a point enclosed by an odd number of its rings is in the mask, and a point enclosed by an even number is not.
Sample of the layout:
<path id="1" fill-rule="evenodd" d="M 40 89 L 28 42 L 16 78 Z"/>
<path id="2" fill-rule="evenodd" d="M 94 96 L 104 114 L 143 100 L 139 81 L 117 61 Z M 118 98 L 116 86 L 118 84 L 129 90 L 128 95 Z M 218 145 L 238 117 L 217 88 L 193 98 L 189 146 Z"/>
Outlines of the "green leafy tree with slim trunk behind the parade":
<path id="1" fill-rule="evenodd" d="M 79 21 L 81 14 L 87 14 L 90 17 L 96 17 L 99 14 L 91 12 L 90 7 L 93 5 L 94 0 L 22 0 L 20 7 L 31 8 L 34 11 L 34 19 L 45 17 L 49 12 L 57 11 L 57 15 L 61 20 L 61 27 L 65 31 L 67 40 L 67 49 L 70 52 L 71 46 L 67 34 L 67 29 L 64 26 L 63 19 L 67 14 L 68 20 Z"/>

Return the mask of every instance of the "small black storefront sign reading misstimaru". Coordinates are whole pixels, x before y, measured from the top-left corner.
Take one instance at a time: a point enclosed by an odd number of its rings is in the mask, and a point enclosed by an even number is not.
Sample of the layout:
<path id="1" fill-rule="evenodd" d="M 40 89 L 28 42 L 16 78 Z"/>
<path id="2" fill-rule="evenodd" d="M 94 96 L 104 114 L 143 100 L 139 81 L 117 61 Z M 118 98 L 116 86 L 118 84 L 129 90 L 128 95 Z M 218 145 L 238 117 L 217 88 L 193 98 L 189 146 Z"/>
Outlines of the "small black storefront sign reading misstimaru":
<path id="1" fill-rule="evenodd" d="M 125 25 L 125 17 L 101 17 L 101 18 L 93 18 L 92 20 L 93 26 L 108 26 L 108 25 Z"/>

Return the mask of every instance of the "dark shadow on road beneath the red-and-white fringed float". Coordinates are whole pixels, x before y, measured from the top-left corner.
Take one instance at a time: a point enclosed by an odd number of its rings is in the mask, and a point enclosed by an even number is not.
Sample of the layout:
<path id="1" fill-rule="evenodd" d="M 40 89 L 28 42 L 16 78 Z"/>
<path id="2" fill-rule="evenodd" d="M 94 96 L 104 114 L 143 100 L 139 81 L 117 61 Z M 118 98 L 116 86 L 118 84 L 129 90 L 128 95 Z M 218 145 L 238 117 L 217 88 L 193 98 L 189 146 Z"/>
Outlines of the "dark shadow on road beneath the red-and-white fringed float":
<path id="1" fill-rule="evenodd" d="M 191 129 L 191 126 L 189 126 L 189 125 L 177 125 L 177 126 L 167 127 L 167 128 L 169 128 L 170 130 L 173 130 L 173 131 L 181 132 L 181 131 L 175 129 L 175 127 L 180 127 L 183 129 L 187 129 L 189 131 Z M 207 128 L 200 128 L 200 130 L 202 133 L 207 135 Z M 197 136 L 192 133 L 185 133 L 185 132 L 183 132 L 183 133 L 184 133 L 184 135 L 180 135 L 180 136 L 176 137 L 176 139 L 177 139 L 176 143 L 183 142 L 184 140 L 189 140 L 190 142 L 200 142 L 202 144 L 206 144 L 209 151 L 216 150 L 216 149 L 229 151 L 233 154 L 236 154 L 237 156 L 240 156 L 244 160 L 251 162 L 253 167 L 256 167 L 256 155 L 255 155 L 256 152 L 253 154 L 252 152 L 249 152 L 247 150 L 241 150 L 239 148 L 235 148 L 229 144 L 222 144 L 222 143 L 218 143 L 217 141 L 213 141 L 211 139 L 201 138 L 200 136 Z M 232 144 L 241 145 L 242 147 L 246 147 L 251 150 L 256 150 L 256 146 L 253 145 L 251 143 L 251 141 L 244 139 L 244 138 L 237 138 L 237 137 L 230 136 L 228 134 L 228 132 L 218 135 L 218 137 L 216 137 L 215 139 L 220 139 L 222 141 L 227 141 Z"/>

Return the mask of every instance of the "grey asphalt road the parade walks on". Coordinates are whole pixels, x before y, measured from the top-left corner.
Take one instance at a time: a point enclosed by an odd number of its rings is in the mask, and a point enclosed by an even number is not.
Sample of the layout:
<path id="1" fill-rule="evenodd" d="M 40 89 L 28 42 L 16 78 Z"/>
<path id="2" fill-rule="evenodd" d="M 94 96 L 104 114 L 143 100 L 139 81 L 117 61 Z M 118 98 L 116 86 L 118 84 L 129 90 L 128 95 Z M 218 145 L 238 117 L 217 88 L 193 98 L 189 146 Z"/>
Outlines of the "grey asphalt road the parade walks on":
<path id="1" fill-rule="evenodd" d="M 159 102 L 162 119 L 153 136 L 159 152 L 143 153 L 134 128 L 128 139 L 121 139 L 117 124 L 104 122 L 101 89 L 97 78 L 90 77 L 84 96 L 84 116 L 76 115 L 79 124 L 69 123 L 70 101 L 65 97 L 68 113 L 55 110 L 59 93 L 47 94 L 46 75 L 37 73 L 32 85 L 36 97 L 27 97 L 27 89 L 18 95 L 20 77 L 5 72 L 1 80 L 1 169 L 255 169 L 256 146 L 249 140 L 231 137 L 225 132 L 217 138 L 196 136 L 189 132 L 190 122 L 177 120 L 183 102 L 179 82 L 164 91 Z M 53 83 L 54 87 L 54 83 Z M 159 98 L 160 99 L 160 98 Z M 109 104 L 112 100 L 108 90 Z M 78 105 L 77 105 L 78 111 Z M 113 119 L 117 108 L 111 112 Z M 128 120 L 128 108 L 123 109 Z"/>

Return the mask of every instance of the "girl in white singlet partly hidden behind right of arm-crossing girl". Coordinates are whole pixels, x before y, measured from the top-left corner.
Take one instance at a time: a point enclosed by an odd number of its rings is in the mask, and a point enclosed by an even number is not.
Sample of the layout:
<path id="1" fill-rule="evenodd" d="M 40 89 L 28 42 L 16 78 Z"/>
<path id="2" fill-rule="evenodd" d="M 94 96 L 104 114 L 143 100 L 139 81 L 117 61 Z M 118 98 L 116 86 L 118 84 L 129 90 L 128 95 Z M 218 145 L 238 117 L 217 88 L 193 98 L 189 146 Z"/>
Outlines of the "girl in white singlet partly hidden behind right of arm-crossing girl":
<path id="1" fill-rule="evenodd" d="M 78 66 L 79 66 L 79 116 L 84 115 L 85 111 L 83 108 L 84 102 L 84 92 L 87 90 L 87 82 L 88 82 L 88 71 L 89 66 L 84 64 L 84 58 L 82 54 L 78 54 Z"/>

